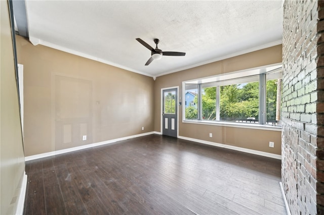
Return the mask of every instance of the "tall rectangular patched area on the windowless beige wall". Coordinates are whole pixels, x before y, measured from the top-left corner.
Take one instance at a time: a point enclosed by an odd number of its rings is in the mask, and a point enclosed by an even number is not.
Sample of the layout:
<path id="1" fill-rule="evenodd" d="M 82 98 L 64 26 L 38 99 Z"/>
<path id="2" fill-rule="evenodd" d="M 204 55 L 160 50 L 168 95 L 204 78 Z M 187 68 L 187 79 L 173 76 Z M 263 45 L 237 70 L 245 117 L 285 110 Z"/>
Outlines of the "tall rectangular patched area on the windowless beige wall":
<path id="1" fill-rule="evenodd" d="M 92 142 L 92 88 L 90 80 L 55 75 L 55 150 Z"/>

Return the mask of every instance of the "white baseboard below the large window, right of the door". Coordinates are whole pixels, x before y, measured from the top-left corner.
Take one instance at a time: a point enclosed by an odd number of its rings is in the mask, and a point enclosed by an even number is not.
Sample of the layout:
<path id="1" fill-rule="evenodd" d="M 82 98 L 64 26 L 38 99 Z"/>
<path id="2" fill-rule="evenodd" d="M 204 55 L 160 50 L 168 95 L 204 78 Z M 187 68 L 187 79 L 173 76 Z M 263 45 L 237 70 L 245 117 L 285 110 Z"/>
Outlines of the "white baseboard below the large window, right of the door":
<path id="1" fill-rule="evenodd" d="M 190 137 L 178 136 L 178 138 L 193 141 L 193 142 L 203 143 L 203 144 L 207 144 L 207 145 L 228 148 L 228 149 L 232 149 L 232 150 L 236 150 L 236 151 L 242 151 L 242 152 L 257 154 L 257 155 L 266 156 L 266 157 L 272 157 L 275 159 L 281 159 L 281 155 L 279 155 L 279 154 L 272 154 L 272 153 L 268 153 L 268 152 L 264 152 L 264 151 L 257 151 L 257 150 L 248 149 L 248 148 L 241 148 L 241 147 L 237 147 L 237 146 L 226 145 L 226 144 L 222 144 L 222 143 L 215 143 L 215 142 L 210 142 L 210 141 L 206 141 L 206 140 L 199 140 L 199 139 L 194 139 L 194 138 L 190 138 Z"/>

